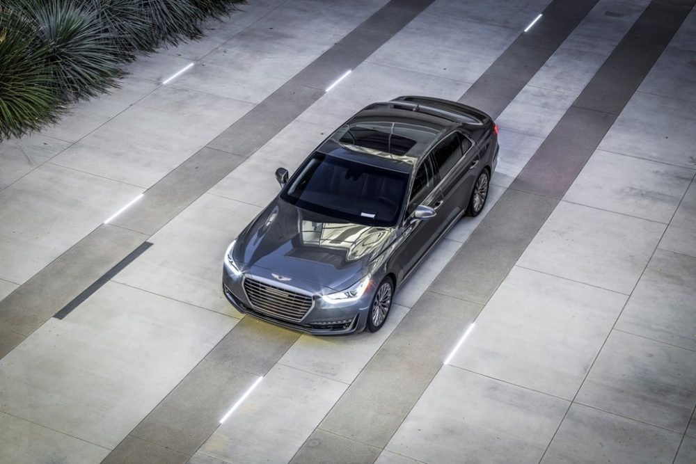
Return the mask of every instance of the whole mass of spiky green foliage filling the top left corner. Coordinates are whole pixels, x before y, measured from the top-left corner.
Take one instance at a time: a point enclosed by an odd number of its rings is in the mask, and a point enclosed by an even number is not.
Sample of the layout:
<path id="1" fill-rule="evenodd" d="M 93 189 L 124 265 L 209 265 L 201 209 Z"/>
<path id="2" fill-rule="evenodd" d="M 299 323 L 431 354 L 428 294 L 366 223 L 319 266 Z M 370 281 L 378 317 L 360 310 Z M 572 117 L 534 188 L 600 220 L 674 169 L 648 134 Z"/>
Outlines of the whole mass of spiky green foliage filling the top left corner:
<path id="1" fill-rule="evenodd" d="M 119 63 L 198 38 L 244 0 L 0 0 L 0 141 L 118 86 Z"/>

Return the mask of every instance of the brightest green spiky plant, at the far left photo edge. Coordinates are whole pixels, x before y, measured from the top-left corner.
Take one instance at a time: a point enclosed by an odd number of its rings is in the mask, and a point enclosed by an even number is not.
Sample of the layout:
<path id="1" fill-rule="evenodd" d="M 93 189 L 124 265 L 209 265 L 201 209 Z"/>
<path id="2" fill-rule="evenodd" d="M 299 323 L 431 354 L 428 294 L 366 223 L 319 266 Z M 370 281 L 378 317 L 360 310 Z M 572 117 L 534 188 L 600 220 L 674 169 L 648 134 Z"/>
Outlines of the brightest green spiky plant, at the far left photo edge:
<path id="1" fill-rule="evenodd" d="M 0 141 L 56 122 L 62 111 L 46 50 L 33 47 L 29 19 L 0 7 Z"/>

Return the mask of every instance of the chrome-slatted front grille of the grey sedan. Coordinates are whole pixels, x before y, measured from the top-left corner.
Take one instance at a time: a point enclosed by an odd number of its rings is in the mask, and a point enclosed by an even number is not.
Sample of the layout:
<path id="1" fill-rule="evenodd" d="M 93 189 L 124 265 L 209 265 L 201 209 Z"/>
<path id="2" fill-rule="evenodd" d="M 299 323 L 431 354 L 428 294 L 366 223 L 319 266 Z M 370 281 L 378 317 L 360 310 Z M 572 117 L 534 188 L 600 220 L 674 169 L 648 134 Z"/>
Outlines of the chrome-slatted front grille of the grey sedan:
<path id="1" fill-rule="evenodd" d="M 244 279 L 244 291 L 255 311 L 286 321 L 301 321 L 312 307 L 312 297 L 309 295 L 250 278 Z"/>

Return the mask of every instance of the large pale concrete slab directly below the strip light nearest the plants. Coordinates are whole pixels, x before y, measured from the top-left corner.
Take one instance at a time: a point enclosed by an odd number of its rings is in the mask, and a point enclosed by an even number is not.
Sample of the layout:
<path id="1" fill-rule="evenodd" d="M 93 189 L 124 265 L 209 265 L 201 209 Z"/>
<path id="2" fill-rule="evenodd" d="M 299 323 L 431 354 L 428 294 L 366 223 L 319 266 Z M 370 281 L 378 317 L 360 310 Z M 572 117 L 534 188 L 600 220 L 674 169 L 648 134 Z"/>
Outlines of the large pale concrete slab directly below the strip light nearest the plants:
<path id="1" fill-rule="evenodd" d="M 52 161 L 147 188 L 252 106 L 219 95 L 161 86 Z"/>

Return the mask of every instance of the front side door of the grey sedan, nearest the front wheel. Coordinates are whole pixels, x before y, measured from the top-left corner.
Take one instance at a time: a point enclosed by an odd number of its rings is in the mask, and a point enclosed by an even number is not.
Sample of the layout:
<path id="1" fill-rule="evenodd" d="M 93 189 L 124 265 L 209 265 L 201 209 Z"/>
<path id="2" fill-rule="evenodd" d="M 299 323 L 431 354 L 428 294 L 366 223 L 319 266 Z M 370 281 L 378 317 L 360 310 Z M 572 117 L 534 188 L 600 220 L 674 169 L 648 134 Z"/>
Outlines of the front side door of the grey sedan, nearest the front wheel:
<path id="1" fill-rule="evenodd" d="M 442 204 L 442 196 L 436 189 L 436 177 L 432 164 L 432 157 L 423 159 L 416 169 L 413 178 L 409 202 L 406 207 L 404 221 L 398 232 L 400 236 L 396 241 L 396 250 L 393 254 L 393 263 L 390 266 L 397 274 L 397 281 L 402 282 L 416 266 L 422 255 L 432 246 L 437 238 L 439 227 L 438 216 L 427 220 L 413 218 L 413 211 L 418 205 L 425 205 L 435 209 Z"/>

